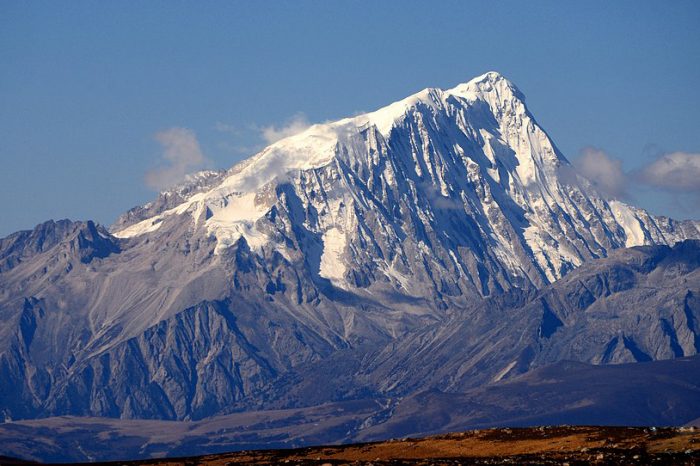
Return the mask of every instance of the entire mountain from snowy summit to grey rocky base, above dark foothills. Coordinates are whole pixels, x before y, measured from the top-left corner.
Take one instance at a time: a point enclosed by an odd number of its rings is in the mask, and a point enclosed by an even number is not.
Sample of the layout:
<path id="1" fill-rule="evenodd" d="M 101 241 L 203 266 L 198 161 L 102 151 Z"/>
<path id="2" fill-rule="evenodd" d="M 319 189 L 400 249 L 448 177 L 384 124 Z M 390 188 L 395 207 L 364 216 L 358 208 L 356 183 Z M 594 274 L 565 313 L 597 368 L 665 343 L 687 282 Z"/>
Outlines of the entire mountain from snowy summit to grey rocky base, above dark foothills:
<path id="1" fill-rule="evenodd" d="M 691 355 L 698 245 L 618 250 L 698 237 L 598 195 L 487 73 L 194 176 L 111 233 L 0 240 L 0 410 L 198 419 Z"/>

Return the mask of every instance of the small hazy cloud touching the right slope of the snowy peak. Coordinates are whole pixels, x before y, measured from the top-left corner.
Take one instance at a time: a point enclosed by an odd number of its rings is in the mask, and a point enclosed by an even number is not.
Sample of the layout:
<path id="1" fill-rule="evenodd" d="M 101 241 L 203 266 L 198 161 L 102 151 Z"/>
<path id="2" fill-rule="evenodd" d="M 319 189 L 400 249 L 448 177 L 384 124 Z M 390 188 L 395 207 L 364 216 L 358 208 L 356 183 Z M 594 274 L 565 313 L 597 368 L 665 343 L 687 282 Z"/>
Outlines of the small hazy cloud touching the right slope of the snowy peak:
<path id="1" fill-rule="evenodd" d="M 615 198 L 627 196 L 629 181 L 627 174 L 622 170 L 621 160 L 609 156 L 600 149 L 587 147 L 574 160 L 574 166 L 601 193 Z"/>

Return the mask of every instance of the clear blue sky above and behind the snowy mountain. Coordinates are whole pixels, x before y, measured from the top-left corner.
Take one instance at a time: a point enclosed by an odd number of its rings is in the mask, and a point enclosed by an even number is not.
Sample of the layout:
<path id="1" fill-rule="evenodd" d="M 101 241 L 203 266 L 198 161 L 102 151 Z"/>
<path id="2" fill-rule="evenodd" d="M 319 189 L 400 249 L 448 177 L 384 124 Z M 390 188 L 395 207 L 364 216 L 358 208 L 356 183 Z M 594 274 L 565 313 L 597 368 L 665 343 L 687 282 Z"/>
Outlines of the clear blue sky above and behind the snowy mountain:
<path id="1" fill-rule="evenodd" d="M 634 179 L 663 154 L 700 153 L 700 2 L 489 3 L 5 0 L 0 235 L 109 225 L 150 200 L 170 128 L 196 137 L 200 165 L 227 168 L 272 128 L 489 70 L 571 160 L 595 147 Z M 696 188 L 624 195 L 700 217 Z"/>

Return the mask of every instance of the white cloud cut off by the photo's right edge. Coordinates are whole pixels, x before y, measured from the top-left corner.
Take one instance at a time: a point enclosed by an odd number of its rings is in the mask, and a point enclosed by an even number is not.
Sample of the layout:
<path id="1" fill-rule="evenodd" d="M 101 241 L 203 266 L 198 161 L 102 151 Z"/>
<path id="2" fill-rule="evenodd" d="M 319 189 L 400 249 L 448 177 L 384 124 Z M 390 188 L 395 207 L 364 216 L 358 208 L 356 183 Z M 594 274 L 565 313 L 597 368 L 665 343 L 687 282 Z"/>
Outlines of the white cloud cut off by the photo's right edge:
<path id="1" fill-rule="evenodd" d="M 672 152 L 635 173 L 640 183 L 672 192 L 700 192 L 700 153 Z"/>

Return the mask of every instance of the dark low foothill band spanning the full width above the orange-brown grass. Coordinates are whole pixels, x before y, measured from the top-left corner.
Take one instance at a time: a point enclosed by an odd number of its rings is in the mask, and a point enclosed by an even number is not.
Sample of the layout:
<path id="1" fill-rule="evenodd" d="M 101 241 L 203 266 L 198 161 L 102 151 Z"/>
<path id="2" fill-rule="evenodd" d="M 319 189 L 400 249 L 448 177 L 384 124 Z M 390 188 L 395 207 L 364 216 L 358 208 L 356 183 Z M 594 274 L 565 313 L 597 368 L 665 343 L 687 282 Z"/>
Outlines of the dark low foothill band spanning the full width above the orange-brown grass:
<path id="1" fill-rule="evenodd" d="M 679 426 L 700 413 L 698 370 L 697 356 L 610 366 L 564 361 L 466 393 L 420 392 L 401 400 L 388 418 L 389 400 L 379 399 L 193 422 L 76 417 L 18 421 L 0 424 L 0 455 L 55 462 L 116 461 L 366 442 L 493 426 Z M 632 395 L 630 385 L 635 387 Z M 384 422 L 371 422 L 378 418 Z"/>

